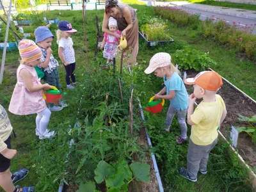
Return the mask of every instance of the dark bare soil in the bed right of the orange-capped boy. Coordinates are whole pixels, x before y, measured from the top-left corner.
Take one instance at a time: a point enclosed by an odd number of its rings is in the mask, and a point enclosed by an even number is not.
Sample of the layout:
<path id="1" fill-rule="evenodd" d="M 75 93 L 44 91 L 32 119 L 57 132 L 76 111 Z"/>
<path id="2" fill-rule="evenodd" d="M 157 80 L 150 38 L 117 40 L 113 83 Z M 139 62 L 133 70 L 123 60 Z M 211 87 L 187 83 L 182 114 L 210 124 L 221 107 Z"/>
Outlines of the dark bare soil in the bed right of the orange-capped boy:
<path id="1" fill-rule="evenodd" d="M 195 77 L 196 74 L 197 72 L 195 71 L 187 71 L 187 77 Z M 227 116 L 221 125 L 220 131 L 229 140 L 231 125 L 246 125 L 245 122 L 239 122 L 238 117 L 239 115 L 247 117 L 256 115 L 256 104 L 226 81 L 223 81 L 223 86 L 218 91 L 218 94 L 223 98 L 227 108 Z M 256 147 L 252 143 L 252 138 L 246 132 L 239 133 L 237 149 L 244 161 L 250 164 L 254 172 L 256 172 Z"/>

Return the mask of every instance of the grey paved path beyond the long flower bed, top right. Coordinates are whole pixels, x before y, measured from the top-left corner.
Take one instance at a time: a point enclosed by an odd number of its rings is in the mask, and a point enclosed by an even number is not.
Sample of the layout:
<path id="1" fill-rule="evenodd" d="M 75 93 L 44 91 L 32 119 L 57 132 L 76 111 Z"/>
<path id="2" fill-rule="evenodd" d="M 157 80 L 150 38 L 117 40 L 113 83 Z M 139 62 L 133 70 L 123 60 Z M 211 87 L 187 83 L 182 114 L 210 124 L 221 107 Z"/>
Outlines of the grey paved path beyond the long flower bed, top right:
<path id="1" fill-rule="evenodd" d="M 144 3 L 147 1 L 140 0 Z M 229 24 L 236 24 L 237 28 L 244 30 L 253 30 L 252 34 L 256 34 L 256 11 L 241 10 L 235 8 L 223 8 L 220 6 L 211 6 L 205 4 L 191 4 L 187 1 L 159 2 L 152 1 L 153 6 L 176 6 L 182 10 L 186 10 L 191 14 L 200 13 L 200 19 L 222 19 Z M 248 29 L 249 28 L 249 29 Z"/>

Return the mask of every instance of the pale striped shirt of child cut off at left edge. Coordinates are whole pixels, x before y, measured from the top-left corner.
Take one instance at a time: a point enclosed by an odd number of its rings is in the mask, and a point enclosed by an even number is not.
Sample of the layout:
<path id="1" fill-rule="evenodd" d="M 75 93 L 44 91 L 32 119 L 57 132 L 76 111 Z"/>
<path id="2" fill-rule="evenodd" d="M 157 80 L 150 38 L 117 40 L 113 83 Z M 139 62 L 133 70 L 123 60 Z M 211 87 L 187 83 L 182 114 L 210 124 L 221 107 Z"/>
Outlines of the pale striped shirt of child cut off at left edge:
<path id="1" fill-rule="evenodd" d="M 4 143 L 12 132 L 12 125 L 8 118 L 8 114 L 0 105 L 0 152 L 7 148 L 7 145 Z"/>

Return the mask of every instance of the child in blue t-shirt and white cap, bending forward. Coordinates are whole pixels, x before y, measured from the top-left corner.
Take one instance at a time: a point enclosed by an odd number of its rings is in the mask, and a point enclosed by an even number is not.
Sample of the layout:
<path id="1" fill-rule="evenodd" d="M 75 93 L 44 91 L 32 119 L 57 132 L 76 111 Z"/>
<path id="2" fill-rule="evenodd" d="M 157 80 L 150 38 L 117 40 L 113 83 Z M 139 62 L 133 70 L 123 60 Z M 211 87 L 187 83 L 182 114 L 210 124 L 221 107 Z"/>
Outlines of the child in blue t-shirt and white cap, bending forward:
<path id="1" fill-rule="evenodd" d="M 179 76 L 179 70 L 171 63 L 171 56 L 166 52 L 158 52 L 155 54 L 145 70 L 146 74 L 154 72 L 155 76 L 163 77 L 164 88 L 155 95 L 154 99 L 169 99 L 170 106 L 166 117 L 165 130 L 170 132 L 173 116 L 177 113 L 180 124 L 181 134 L 177 139 L 177 143 L 182 144 L 188 140 L 186 114 L 188 110 L 188 93 L 182 79 Z M 166 93 L 166 95 L 163 95 Z"/>

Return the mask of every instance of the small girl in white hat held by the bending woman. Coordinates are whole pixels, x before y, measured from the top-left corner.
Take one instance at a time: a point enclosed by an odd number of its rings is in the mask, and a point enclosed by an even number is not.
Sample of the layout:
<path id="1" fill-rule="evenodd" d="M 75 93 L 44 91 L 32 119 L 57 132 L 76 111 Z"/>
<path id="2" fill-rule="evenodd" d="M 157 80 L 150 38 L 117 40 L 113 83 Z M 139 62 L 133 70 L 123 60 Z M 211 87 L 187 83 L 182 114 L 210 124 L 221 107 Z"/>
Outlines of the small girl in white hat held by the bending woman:
<path id="1" fill-rule="evenodd" d="M 109 31 L 121 35 L 120 31 L 117 29 L 117 22 L 113 17 L 109 17 L 108 20 Z M 108 33 L 104 33 L 104 39 L 102 41 L 102 45 L 100 49 L 103 49 L 103 57 L 108 59 L 108 65 L 112 62 L 114 55 L 117 51 L 117 46 L 119 44 L 119 39 L 115 36 L 108 35 Z"/>

